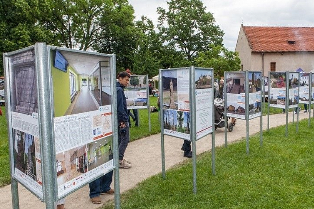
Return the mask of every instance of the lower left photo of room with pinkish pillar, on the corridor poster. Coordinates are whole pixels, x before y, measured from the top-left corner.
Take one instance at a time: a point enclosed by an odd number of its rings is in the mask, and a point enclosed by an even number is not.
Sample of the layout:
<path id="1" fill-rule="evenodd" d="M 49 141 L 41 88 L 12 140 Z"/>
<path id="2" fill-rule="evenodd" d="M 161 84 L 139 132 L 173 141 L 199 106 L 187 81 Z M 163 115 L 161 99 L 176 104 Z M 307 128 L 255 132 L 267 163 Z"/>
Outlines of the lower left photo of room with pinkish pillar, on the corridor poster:
<path id="1" fill-rule="evenodd" d="M 86 145 L 56 155 L 58 186 L 87 172 Z"/>

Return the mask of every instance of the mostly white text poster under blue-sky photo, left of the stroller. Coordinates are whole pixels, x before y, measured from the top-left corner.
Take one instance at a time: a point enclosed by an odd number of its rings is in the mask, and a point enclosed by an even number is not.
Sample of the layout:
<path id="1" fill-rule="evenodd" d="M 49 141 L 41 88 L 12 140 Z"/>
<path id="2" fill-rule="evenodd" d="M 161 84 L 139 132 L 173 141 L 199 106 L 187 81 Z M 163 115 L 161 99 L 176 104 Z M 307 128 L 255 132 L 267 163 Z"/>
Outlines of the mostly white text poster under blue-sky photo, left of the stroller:
<path id="1" fill-rule="evenodd" d="M 212 70 L 195 69 L 196 138 L 213 132 Z"/>

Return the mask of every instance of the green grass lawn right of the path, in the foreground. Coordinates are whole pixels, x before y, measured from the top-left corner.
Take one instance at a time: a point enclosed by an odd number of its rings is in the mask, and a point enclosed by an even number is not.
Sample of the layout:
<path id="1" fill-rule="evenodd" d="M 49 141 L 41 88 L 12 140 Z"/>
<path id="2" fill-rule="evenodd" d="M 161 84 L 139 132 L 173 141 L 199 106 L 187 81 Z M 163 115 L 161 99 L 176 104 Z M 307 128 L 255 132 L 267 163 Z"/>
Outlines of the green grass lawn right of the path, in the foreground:
<path id="1" fill-rule="evenodd" d="M 193 194 L 192 161 L 141 182 L 121 195 L 122 208 L 314 208 L 314 119 L 289 124 L 216 149 L 216 175 L 211 153 L 197 157 L 197 194 Z M 113 203 L 103 207 L 113 208 Z"/>

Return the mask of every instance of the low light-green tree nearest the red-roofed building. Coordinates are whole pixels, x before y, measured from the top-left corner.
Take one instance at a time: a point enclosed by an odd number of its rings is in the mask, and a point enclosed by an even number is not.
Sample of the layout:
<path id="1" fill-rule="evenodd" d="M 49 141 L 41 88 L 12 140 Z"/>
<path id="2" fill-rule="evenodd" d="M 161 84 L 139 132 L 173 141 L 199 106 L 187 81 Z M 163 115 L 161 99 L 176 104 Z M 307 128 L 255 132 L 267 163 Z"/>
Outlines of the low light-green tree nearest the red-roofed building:
<path id="1" fill-rule="evenodd" d="M 200 52 L 195 62 L 200 67 L 214 68 L 214 77 L 216 78 L 224 76 L 225 71 L 239 71 L 241 69 L 238 52 L 229 51 L 220 45 L 210 44 L 209 50 Z"/>

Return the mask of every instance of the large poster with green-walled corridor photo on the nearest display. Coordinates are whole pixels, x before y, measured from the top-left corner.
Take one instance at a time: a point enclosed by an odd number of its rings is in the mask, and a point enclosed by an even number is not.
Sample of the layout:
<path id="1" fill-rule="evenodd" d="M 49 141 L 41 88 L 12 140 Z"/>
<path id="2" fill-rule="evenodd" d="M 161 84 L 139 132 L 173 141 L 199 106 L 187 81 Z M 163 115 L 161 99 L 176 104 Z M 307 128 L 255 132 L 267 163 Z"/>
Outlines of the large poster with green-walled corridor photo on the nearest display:
<path id="1" fill-rule="evenodd" d="M 105 56 L 50 54 L 60 198 L 113 169 L 110 72 Z"/>

